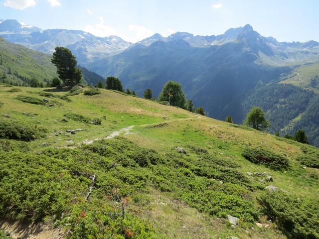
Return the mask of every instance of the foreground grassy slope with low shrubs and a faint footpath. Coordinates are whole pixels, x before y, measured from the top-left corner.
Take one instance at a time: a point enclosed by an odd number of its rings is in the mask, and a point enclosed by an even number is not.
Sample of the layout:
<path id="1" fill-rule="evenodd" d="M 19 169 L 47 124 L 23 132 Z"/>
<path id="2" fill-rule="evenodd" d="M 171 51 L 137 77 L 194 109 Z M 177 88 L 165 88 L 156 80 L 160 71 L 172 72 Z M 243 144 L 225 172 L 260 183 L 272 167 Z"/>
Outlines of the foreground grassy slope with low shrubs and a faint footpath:
<path id="1" fill-rule="evenodd" d="M 67 238 L 319 238 L 314 147 L 103 89 L 16 89 L 0 87 L 0 225 L 44 221 Z"/>

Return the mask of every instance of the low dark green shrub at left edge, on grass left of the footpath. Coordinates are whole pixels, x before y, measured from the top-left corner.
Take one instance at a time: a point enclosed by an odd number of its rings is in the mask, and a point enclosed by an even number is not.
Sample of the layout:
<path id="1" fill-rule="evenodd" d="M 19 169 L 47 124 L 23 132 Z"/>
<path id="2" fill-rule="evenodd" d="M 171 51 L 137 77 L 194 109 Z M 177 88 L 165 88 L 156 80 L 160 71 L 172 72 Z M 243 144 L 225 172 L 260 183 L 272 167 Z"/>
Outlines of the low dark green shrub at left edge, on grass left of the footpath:
<path id="1" fill-rule="evenodd" d="M 31 141 L 45 137 L 47 129 L 31 127 L 16 121 L 0 120 L 0 138 Z"/>

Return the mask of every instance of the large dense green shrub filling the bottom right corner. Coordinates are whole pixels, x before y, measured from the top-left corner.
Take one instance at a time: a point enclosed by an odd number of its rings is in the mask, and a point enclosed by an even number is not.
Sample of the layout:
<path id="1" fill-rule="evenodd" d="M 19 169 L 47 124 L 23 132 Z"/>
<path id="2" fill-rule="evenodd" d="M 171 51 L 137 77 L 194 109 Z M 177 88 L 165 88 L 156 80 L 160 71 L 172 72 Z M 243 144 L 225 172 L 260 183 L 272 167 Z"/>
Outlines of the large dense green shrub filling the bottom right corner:
<path id="1" fill-rule="evenodd" d="M 264 207 L 264 213 L 275 221 L 289 238 L 319 239 L 318 199 L 297 198 L 283 192 L 267 192 L 260 197 L 259 202 Z"/>

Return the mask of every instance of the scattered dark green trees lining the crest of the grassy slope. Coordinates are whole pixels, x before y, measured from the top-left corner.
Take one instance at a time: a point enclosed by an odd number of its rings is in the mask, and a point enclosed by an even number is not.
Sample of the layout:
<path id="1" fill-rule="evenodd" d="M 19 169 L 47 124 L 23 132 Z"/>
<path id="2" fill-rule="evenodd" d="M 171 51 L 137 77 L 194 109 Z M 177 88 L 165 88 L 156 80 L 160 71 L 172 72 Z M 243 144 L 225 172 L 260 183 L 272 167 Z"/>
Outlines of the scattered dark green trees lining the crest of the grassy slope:
<path id="1" fill-rule="evenodd" d="M 64 86 L 73 87 L 74 85 L 80 83 L 82 71 L 81 69 L 76 67 L 77 61 L 75 59 L 75 56 L 69 49 L 65 47 L 56 47 L 51 61 L 57 67 L 57 73 Z M 60 84 L 59 79 L 53 79 L 52 85 L 58 84 Z M 121 80 L 114 76 L 109 76 L 106 79 L 105 86 L 100 80 L 97 83 L 96 88 L 116 90 L 128 95 L 137 96 L 136 92 L 129 88 L 124 90 Z M 143 97 L 145 99 L 155 100 L 152 95 L 152 90 L 149 88 L 145 90 Z M 179 107 L 189 112 L 207 116 L 202 107 L 194 109 L 192 101 L 186 99 L 181 85 L 174 81 L 168 81 L 163 86 L 162 91 L 160 92 L 160 95 L 158 97 L 158 102 L 164 105 Z M 226 118 L 226 121 L 229 123 L 233 122 L 230 116 Z M 244 124 L 257 130 L 265 130 L 270 126 L 270 121 L 266 119 L 265 113 L 262 108 L 253 107 L 247 114 Z M 279 132 L 277 133 L 277 136 L 279 136 Z M 302 143 L 308 143 L 306 133 L 302 129 L 298 130 L 295 136 L 285 135 L 285 137 Z"/>

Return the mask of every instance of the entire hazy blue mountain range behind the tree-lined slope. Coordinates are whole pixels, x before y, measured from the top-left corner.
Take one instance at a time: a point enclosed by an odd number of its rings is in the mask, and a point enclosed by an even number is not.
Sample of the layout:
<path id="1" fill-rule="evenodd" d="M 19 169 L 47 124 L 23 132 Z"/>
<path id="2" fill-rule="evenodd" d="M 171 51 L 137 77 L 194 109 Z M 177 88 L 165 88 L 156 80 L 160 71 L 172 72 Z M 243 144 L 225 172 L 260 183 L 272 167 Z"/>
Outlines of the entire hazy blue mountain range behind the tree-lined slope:
<path id="1" fill-rule="evenodd" d="M 211 36 L 157 33 L 132 44 L 117 36 L 0 20 L 0 35 L 49 54 L 55 46 L 68 47 L 81 66 L 119 77 L 139 95 L 151 88 L 158 96 L 166 81 L 177 81 L 195 106 L 216 119 L 231 116 L 241 123 L 252 106 L 261 106 L 271 119 L 271 132 L 293 134 L 304 128 L 319 146 L 314 115 L 319 112 L 319 42 L 279 42 L 249 24 Z"/>

